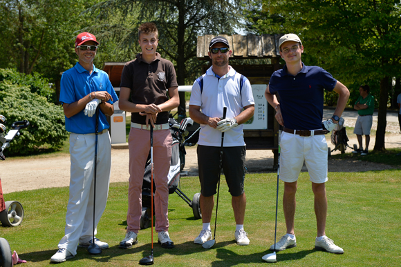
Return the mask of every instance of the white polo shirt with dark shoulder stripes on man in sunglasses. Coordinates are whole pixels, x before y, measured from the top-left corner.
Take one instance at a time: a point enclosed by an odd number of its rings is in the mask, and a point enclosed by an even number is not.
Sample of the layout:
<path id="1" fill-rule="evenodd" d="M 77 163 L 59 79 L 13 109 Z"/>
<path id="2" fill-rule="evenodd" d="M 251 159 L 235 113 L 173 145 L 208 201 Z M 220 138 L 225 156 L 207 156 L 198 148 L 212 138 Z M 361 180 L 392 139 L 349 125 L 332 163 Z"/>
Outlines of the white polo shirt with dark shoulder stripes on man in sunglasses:
<path id="1" fill-rule="evenodd" d="M 218 77 L 210 67 L 204 75 L 194 81 L 189 105 L 200 106 L 203 114 L 209 117 L 223 117 L 223 107 L 227 107 L 227 119 L 239 115 L 243 107 L 254 105 L 254 97 L 250 81 L 236 72 L 230 66 L 230 71 L 223 77 Z M 203 90 L 201 92 L 201 83 Z M 245 146 L 243 140 L 243 125 L 227 130 L 223 146 Z M 221 146 L 221 131 L 208 125 L 201 124 L 199 145 Z"/>

